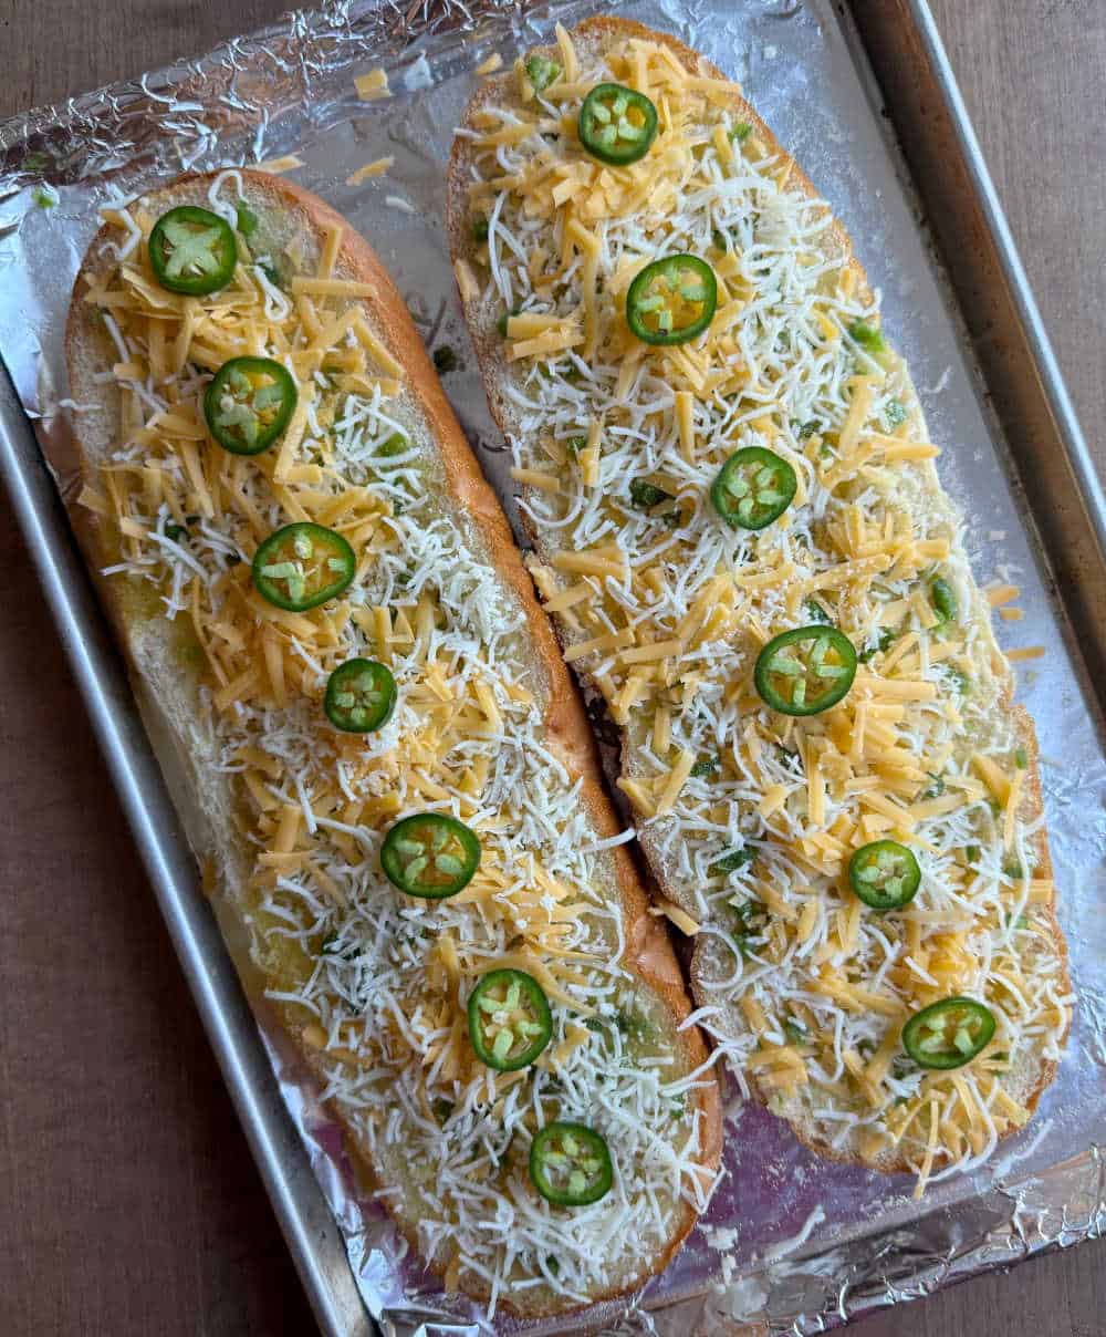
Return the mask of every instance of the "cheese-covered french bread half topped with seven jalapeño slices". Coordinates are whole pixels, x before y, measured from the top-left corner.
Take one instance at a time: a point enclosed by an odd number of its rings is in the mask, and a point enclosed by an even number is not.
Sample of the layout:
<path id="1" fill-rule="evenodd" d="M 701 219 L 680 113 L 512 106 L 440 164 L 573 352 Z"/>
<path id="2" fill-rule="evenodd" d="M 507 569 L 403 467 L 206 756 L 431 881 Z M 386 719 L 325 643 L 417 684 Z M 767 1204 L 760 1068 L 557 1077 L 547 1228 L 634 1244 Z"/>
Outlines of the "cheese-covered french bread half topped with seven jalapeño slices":
<path id="1" fill-rule="evenodd" d="M 167 290 L 151 267 L 151 230 L 179 206 L 234 231 L 216 291 Z M 191 226 L 172 241 L 182 254 L 204 245 Z M 178 270 L 188 279 L 203 263 Z M 418 1258 L 489 1316 L 638 1286 L 709 1191 L 715 1079 L 681 1025 L 672 945 L 620 842 L 548 619 L 379 259 L 283 179 L 183 176 L 106 214 L 67 354 L 72 396 L 95 405 L 75 431 L 104 604 L 179 753 L 208 886 L 349 1154 Z M 204 416 L 214 373 L 239 356 L 278 360 L 298 389 L 263 453 L 223 449 Z M 235 421 L 220 402 L 216 417 Z M 347 540 L 345 591 L 291 607 L 295 560 L 251 567 L 286 523 Z M 339 552 L 327 563 L 341 570 L 345 550 L 319 551 Z M 282 580 L 283 607 L 264 594 Z M 325 714 L 350 658 L 394 679 L 375 731 Z M 438 900 L 405 894 L 381 865 L 395 822 L 427 812 L 480 844 L 472 880 Z M 466 1005 L 493 968 L 524 972 L 552 1009 L 526 1067 L 506 1062 L 522 1034 L 513 1012 L 493 1013 L 510 1043 L 490 1066 L 474 1050 Z M 605 1139 L 598 1201 L 536 1191 L 529 1154 L 552 1120 Z M 601 1178 L 596 1165 L 586 1175 Z M 546 1170 L 561 1174 L 553 1159 Z"/>

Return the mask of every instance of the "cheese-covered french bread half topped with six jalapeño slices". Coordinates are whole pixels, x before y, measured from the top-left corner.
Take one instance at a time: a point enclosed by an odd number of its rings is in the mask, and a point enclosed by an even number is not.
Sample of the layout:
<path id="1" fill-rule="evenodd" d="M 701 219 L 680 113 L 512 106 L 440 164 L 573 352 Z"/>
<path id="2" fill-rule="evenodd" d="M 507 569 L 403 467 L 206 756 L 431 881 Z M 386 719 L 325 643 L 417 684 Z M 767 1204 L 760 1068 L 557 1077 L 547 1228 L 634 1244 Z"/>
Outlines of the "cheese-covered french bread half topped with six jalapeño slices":
<path id="1" fill-rule="evenodd" d="M 622 92 L 585 126 L 601 84 Z M 705 1028 L 821 1155 L 919 1193 L 980 1162 L 1071 1016 L 1037 742 L 843 226 L 736 84 L 601 17 L 474 94 L 449 234 L 530 570 L 620 731 Z M 675 255 L 679 297 L 656 281 L 636 306 Z M 739 451 L 767 467 L 739 481 L 763 511 L 717 500 Z M 765 646 L 807 627 L 825 654 L 830 624 L 847 644 L 819 673 L 850 686 L 812 711 Z M 855 856 L 918 877 L 874 908 Z"/>

